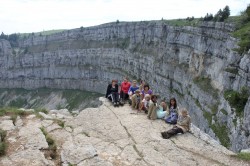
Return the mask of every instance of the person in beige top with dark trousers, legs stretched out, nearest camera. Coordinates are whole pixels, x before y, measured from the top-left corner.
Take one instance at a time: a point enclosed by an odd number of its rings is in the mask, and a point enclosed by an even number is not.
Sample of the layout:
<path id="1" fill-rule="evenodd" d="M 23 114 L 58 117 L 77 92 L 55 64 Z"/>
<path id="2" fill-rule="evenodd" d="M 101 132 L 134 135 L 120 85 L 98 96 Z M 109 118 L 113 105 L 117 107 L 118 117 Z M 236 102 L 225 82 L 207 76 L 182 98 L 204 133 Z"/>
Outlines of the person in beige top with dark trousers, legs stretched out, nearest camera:
<path id="1" fill-rule="evenodd" d="M 180 116 L 177 121 L 177 125 L 175 125 L 172 129 L 161 132 L 161 135 L 164 139 L 169 139 L 170 137 L 178 134 L 185 133 L 190 130 L 191 118 L 188 115 L 188 111 L 186 108 L 182 108 L 180 111 Z"/>

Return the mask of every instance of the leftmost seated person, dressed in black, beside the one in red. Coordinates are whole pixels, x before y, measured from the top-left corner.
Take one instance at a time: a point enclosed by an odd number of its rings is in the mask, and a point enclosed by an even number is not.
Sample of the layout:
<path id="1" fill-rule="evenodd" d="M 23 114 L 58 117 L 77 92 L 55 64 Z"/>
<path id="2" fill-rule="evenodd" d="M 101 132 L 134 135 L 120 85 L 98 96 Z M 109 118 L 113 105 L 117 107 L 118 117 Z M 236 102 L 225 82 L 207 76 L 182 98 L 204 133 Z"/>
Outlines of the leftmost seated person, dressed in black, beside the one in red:
<path id="1" fill-rule="evenodd" d="M 118 84 L 116 80 L 112 80 L 111 84 L 108 85 L 106 98 L 108 98 L 114 106 L 119 105 Z"/>

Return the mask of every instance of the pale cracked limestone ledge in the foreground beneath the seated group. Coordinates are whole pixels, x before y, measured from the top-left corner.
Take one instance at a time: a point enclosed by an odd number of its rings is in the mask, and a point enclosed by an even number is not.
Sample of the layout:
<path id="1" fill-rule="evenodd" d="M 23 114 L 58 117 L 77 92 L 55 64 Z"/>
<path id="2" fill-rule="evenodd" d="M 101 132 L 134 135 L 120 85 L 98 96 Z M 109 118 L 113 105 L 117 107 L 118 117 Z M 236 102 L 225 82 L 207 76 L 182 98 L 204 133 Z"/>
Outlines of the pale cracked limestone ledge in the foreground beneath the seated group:
<path id="1" fill-rule="evenodd" d="M 15 123 L 1 117 L 9 146 L 0 165 L 249 165 L 195 126 L 191 133 L 162 139 L 160 132 L 171 125 L 135 114 L 128 105 L 113 107 L 100 100 L 99 108 L 74 115 L 51 110 L 40 118 L 18 117 Z"/>

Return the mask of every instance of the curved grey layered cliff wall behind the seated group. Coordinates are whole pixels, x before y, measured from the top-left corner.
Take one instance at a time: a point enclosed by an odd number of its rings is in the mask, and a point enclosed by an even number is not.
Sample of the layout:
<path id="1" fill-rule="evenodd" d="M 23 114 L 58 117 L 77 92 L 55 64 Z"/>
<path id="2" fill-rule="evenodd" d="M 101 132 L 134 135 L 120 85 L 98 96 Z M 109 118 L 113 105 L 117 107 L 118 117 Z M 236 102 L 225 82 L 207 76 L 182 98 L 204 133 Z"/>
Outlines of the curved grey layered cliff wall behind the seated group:
<path id="1" fill-rule="evenodd" d="M 145 79 L 162 98 L 174 96 L 187 107 L 201 130 L 238 151 L 250 147 L 249 128 L 241 131 L 249 120 L 232 111 L 223 93 L 250 87 L 250 53 L 233 51 L 238 46 L 232 30 L 230 24 L 213 22 L 198 27 L 121 22 L 31 35 L 15 49 L 0 40 L 0 85 L 104 93 L 111 79 Z M 245 115 L 249 111 L 247 104 Z"/>

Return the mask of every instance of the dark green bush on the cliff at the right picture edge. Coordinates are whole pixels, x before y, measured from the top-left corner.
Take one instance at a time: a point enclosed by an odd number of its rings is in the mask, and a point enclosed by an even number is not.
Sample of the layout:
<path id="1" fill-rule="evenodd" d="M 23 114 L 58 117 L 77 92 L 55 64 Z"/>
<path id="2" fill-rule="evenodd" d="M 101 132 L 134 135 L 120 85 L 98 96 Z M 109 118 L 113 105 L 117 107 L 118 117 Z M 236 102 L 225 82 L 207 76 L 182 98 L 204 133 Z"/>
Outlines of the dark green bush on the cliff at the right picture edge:
<path id="1" fill-rule="evenodd" d="M 247 87 L 243 87 L 240 92 L 234 90 L 226 90 L 224 98 L 229 102 L 230 106 L 235 108 L 236 115 L 243 117 L 244 107 L 247 103 L 250 91 Z"/>

